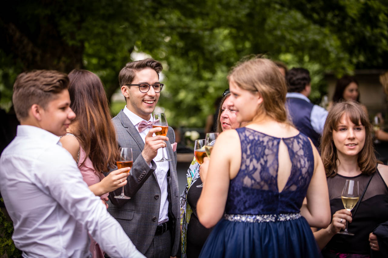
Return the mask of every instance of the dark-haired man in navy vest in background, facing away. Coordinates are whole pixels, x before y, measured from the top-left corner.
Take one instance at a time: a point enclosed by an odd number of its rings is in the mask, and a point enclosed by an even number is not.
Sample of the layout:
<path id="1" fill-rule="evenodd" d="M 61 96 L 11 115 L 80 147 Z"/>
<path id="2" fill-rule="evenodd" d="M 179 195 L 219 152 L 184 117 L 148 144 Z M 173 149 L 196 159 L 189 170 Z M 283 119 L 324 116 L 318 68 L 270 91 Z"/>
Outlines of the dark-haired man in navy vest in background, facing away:
<path id="1" fill-rule="evenodd" d="M 287 72 L 286 82 L 286 108 L 289 119 L 319 150 L 319 138 L 328 112 L 308 99 L 311 92 L 310 73 L 304 68 L 293 68 Z"/>

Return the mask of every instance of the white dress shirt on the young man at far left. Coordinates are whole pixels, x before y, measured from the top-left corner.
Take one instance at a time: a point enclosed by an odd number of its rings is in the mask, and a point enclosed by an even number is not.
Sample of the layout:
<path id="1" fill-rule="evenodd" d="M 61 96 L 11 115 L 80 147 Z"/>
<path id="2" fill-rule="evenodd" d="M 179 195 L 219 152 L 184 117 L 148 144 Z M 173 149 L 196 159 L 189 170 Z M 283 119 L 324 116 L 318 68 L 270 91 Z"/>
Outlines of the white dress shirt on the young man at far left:
<path id="1" fill-rule="evenodd" d="M 1 155 L 0 177 L 23 257 L 91 257 L 88 233 L 111 257 L 144 257 L 89 190 L 58 136 L 18 126 Z"/>

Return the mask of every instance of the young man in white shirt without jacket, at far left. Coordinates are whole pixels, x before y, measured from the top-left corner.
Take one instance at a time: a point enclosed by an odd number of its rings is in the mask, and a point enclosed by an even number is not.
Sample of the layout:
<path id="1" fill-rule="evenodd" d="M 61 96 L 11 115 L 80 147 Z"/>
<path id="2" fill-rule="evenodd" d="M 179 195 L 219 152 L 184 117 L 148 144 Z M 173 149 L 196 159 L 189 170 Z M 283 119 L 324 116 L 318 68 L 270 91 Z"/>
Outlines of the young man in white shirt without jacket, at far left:
<path id="1" fill-rule="evenodd" d="M 14 84 L 21 125 L 0 158 L 0 190 L 15 246 L 23 257 L 91 257 L 89 233 L 111 257 L 144 257 L 59 143 L 75 118 L 68 84 L 66 74 L 47 70 L 22 73 Z"/>

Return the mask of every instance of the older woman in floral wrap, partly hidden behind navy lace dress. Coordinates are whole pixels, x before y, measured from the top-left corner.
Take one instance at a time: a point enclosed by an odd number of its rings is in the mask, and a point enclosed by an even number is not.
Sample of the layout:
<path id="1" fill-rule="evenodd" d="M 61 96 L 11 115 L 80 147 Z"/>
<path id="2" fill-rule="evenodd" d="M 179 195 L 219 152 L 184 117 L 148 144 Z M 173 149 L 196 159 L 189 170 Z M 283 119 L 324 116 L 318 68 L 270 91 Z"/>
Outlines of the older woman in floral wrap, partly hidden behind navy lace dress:
<path id="1" fill-rule="evenodd" d="M 240 123 L 236 120 L 236 111 L 229 104 L 230 91 L 222 93 L 220 110 L 217 118 L 217 132 L 236 129 Z M 192 161 L 187 170 L 186 188 L 180 198 L 180 224 L 182 225 L 182 258 L 198 257 L 211 229 L 206 229 L 198 221 L 197 201 L 202 191 L 202 181 L 199 177 L 199 163 Z"/>

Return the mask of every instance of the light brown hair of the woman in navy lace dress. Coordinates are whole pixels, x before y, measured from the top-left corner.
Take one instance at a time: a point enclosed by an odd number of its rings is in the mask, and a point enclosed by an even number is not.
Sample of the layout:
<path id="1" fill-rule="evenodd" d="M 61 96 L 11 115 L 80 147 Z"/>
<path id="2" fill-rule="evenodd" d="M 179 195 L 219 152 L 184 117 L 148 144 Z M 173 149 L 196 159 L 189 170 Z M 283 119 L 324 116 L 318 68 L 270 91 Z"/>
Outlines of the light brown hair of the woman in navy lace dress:
<path id="1" fill-rule="evenodd" d="M 260 93 L 263 105 L 255 117 L 265 113 L 278 122 L 287 122 L 286 81 L 274 62 L 261 57 L 241 62 L 229 73 L 228 80 L 242 89 Z"/>

